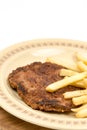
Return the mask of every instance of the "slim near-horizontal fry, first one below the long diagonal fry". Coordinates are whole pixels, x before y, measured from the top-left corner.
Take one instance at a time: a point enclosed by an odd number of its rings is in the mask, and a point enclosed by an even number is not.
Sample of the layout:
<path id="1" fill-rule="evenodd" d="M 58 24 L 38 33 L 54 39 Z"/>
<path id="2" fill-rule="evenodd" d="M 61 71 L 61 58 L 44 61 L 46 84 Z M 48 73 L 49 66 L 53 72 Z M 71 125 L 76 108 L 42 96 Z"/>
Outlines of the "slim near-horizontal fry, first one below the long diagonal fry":
<path id="1" fill-rule="evenodd" d="M 66 99 L 78 97 L 78 96 L 82 96 L 82 95 L 87 95 L 87 89 L 65 92 L 63 95 L 64 95 L 64 98 L 66 98 Z"/>

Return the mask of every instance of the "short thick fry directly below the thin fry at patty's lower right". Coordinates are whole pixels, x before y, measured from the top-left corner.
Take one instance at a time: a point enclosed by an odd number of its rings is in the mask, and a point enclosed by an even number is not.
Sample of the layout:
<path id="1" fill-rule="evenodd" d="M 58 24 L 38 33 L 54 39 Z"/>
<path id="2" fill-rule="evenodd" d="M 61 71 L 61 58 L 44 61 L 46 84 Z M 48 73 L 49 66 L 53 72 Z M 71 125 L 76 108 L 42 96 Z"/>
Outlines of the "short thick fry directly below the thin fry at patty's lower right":
<path id="1" fill-rule="evenodd" d="M 85 103 L 87 103 L 87 95 L 83 95 L 80 97 L 74 97 L 74 98 L 72 98 L 72 102 L 76 106 L 85 104 Z"/>

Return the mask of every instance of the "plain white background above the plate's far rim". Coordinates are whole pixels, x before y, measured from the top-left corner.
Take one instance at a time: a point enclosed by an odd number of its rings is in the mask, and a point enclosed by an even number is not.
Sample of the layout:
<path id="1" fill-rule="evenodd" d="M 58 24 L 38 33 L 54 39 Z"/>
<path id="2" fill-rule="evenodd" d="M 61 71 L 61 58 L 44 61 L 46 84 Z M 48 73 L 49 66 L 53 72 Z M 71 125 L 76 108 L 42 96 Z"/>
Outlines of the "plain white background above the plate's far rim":
<path id="1" fill-rule="evenodd" d="M 0 50 L 41 38 L 87 41 L 87 0 L 0 0 Z"/>

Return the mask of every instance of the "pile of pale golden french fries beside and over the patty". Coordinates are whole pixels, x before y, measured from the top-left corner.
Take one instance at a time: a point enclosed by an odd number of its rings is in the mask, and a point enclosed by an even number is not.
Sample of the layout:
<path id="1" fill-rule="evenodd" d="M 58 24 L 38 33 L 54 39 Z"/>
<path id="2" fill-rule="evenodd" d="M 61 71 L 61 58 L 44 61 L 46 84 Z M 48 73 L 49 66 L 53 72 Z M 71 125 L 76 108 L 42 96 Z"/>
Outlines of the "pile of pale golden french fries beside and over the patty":
<path id="1" fill-rule="evenodd" d="M 75 112 L 75 116 L 77 118 L 85 118 L 87 117 L 87 57 L 84 57 L 78 52 L 75 53 L 75 57 L 79 71 L 74 71 L 69 68 L 61 69 L 60 76 L 64 76 L 64 78 L 48 85 L 46 91 L 52 93 L 68 85 L 83 88 L 81 90 L 65 92 L 63 95 L 65 99 L 72 99 L 76 108 L 72 108 L 71 111 Z M 47 61 L 53 62 L 51 57 L 47 58 Z"/>

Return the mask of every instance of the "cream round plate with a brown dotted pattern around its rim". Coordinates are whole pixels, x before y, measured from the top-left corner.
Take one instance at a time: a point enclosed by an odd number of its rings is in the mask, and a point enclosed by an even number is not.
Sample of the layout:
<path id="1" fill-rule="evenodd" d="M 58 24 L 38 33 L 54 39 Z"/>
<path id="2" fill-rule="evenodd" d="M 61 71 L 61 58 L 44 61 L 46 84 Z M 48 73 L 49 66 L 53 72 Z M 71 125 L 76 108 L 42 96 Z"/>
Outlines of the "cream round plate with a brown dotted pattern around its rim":
<path id="1" fill-rule="evenodd" d="M 24 121 L 47 128 L 87 130 L 87 118 L 77 119 L 73 113 L 59 114 L 33 110 L 20 99 L 7 82 L 9 73 L 19 66 L 34 61 L 44 62 L 49 56 L 64 58 L 62 57 L 64 53 L 72 55 L 76 51 L 87 52 L 87 43 L 64 39 L 31 40 L 15 44 L 0 52 L 1 107 Z M 66 57 L 67 62 L 68 60 Z"/>

